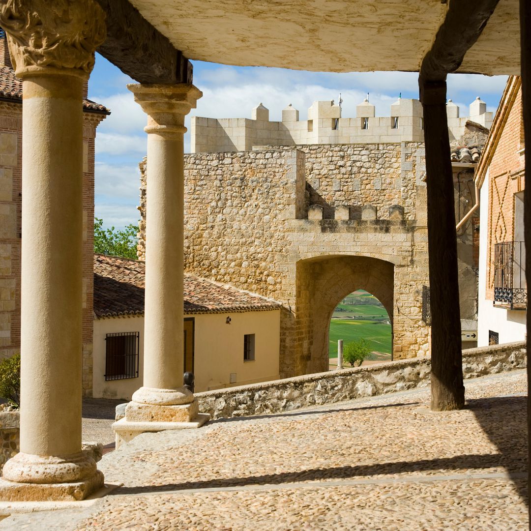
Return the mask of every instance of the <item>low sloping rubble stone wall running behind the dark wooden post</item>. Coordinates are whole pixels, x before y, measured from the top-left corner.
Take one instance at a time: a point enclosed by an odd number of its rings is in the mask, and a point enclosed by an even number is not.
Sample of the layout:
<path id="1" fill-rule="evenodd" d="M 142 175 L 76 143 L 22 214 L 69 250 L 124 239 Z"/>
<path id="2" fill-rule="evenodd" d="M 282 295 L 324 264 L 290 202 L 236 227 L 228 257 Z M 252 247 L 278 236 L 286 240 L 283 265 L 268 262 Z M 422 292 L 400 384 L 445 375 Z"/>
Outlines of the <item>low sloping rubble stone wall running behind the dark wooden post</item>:
<path id="1" fill-rule="evenodd" d="M 464 378 L 524 369 L 525 342 L 507 343 L 463 351 Z M 429 358 L 395 362 L 296 376 L 274 382 L 197 393 L 201 413 L 212 418 L 280 413 L 309 406 L 329 404 L 404 391 L 430 384 Z"/>

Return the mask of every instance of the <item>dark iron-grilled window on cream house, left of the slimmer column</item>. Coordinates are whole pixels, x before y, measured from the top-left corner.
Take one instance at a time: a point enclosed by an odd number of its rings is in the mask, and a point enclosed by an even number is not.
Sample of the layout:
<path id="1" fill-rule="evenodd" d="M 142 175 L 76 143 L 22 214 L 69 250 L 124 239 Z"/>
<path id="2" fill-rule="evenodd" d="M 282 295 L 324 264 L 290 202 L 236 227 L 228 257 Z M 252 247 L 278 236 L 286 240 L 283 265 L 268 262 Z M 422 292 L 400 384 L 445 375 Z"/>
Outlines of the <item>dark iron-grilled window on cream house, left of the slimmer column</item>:
<path id="1" fill-rule="evenodd" d="M 105 380 L 138 378 L 140 332 L 108 333 L 105 337 Z"/>

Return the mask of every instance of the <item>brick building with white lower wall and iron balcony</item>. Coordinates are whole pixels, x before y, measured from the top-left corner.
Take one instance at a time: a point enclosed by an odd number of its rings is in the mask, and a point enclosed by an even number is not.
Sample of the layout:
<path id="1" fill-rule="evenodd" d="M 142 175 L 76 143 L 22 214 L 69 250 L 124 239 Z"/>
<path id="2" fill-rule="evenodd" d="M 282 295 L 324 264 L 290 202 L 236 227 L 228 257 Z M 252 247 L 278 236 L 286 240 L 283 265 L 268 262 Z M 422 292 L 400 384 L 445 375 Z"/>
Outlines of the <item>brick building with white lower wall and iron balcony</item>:
<path id="1" fill-rule="evenodd" d="M 479 245 L 479 346 L 526 335 L 524 152 L 521 81 L 511 76 L 475 176 L 487 227 Z"/>

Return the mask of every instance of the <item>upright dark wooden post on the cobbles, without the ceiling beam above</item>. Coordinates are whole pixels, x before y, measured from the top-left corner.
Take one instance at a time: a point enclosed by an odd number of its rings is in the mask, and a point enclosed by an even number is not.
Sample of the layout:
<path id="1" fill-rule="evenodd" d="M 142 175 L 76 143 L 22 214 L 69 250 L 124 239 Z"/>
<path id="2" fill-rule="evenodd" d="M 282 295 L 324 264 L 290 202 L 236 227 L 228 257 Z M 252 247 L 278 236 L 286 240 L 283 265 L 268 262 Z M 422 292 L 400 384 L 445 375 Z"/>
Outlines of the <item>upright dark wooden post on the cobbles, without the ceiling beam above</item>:
<path id="1" fill-rule="evenodd" d="M 450 139 L 446 116 L 446 81 L 419 76 L 424 109 L 428 256 L 431 301 L 431 409 L 465 405 L 461 320 L 457 273 L 457 237 Z"/>

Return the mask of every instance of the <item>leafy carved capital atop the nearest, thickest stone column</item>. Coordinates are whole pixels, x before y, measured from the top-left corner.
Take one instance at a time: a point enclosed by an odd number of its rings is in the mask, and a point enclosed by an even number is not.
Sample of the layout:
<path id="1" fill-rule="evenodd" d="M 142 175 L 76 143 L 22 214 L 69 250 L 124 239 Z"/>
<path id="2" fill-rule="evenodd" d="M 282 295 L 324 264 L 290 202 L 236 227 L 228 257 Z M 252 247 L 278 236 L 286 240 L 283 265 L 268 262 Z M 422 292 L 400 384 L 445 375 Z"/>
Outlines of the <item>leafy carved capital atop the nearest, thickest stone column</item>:
<path id="1" fill-rule="evenodd" d="M 94 0 L 3 0 L 0 25 L 16 75 L 52 71 L 87 77 L 105 40 L 105 13 Z"/>

